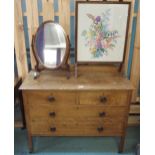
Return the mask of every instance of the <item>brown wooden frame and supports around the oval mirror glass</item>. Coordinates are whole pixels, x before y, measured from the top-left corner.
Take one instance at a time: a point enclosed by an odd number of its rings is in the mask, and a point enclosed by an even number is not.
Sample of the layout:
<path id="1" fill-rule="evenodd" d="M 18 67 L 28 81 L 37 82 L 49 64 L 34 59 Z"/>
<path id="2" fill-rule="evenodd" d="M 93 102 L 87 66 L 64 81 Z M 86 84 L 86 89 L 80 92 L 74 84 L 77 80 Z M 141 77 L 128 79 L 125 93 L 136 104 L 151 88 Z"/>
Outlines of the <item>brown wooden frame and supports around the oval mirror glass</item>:
<path id="1" fill-rule="evenodd" d="M 38 28 L 37 28 L 37 31 L 35 33 L 35 35 L 32 36 L 32 51 L 33 51 L 33 55 L 35 57 L 35 60 L 36 60 L 36 66 L 35 66 L 35 70 L 37 71 L 41 71 L 43 69 L 46 69 L 46 70 L 57 70 L 59 68 L 64 68 L 64 67 L 67 67 L 68 68 L 68 58 L 69 58 L 69 53 L 70 53 L 70 40 L 69 40 L 69 36 L 66 35 L 65 33 L 65 30 L 63 29 L 62 27 L 62 30 L 63 30 L 63 33 L 64 33 L 64 37 L 65 37 L 65 40 L 66 40 L 66 50 L 65 50 L 65 54 L 64 54 L 64 58 L 62 60 L 62 62 L 56 66 L 55 68 L 50 68 L 50 67 L 47 67 L 43 64 L 43 62 L 40 60 L 40 57 L 38 56 L 38 53 L 37 53 L 37 48 L 36 48 L 36 37 L 37 37 L 37 33 L 38 31 L 41 29 L 41 28 L 44 28 L 44 25 L 47 24 L 47 23 L 53 23 L 53 24 L 57 24 L 59 26 L 61 26 L 59 23 L 56 23 L 52 20 L 48 20 L 48 21 L 44 21 Z"/>

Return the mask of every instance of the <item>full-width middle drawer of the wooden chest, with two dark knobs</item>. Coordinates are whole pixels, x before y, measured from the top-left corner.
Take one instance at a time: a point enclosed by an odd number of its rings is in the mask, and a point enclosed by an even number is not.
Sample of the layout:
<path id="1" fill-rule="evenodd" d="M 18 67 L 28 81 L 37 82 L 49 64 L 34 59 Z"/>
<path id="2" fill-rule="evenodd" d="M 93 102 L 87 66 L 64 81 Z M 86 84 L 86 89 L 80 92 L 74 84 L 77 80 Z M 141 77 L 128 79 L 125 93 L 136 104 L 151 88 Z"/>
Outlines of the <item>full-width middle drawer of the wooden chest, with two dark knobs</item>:
<path id="1" fill-rule="evenodd" d="M 127 113 L 127 107 L 112 107 L 112 106 L 92 106 L 92 105 L 41 105 L 29 106 L 30 118 L 124 118 Z"/>

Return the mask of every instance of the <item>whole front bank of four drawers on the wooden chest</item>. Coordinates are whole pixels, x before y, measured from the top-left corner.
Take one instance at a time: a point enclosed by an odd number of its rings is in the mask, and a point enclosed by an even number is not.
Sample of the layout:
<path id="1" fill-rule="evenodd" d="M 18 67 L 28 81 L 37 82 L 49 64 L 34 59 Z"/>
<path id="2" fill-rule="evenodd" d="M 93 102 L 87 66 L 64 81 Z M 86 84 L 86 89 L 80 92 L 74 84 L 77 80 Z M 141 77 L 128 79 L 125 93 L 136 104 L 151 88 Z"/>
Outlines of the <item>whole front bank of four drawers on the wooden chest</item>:
<path id="1" fill-rule="evenodd" d="M 127 102 L 124 91 L 29 91 L 30 131 L 49 136 L 119 136 Z"/>

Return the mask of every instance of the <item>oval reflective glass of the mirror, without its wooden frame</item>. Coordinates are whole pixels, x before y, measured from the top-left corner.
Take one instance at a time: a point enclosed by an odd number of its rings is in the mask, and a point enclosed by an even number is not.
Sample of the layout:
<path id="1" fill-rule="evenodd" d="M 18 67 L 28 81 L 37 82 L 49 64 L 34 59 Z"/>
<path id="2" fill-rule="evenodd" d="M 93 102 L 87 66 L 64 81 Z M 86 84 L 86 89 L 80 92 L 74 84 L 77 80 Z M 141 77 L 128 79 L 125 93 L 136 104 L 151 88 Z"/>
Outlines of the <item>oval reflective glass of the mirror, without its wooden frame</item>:
<path id="1" fill-rule="evenodd" d="M 63 28 L 53 22 L 39 27 L 35 38 L 36 55 L 46 68 L 57 68 L 64 61 L 66 35 Z"/>

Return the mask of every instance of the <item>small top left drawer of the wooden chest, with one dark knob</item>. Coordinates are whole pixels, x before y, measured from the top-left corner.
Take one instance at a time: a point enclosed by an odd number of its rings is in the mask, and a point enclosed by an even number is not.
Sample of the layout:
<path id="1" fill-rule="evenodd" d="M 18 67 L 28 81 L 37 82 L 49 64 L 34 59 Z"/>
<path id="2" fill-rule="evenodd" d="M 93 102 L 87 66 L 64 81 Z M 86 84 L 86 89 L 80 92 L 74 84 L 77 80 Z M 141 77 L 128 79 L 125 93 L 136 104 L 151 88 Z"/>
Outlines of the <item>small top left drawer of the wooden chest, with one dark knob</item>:
<path id="1" fill-rule="evenodd" d="M 29 105 L 59 105 L 76 104 L 76 93 L 70 91 L 30 91 Z"/>

